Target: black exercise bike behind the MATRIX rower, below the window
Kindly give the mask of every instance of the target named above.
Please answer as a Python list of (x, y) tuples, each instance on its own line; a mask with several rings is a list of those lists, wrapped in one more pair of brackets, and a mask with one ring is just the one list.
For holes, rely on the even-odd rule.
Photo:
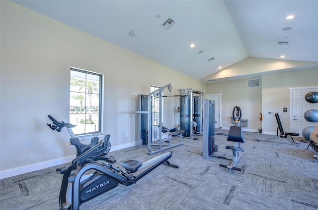
[[(76, 157), (79, 157), (81, 154), (83, 154), (84, 152), (88, 151), (90, 148), (94, 147), (95, 145), (97, 145), (97, 143), (99, 142), (99, 138), (97, 136), (94, 136), (91, 138), (90, 140), (90, 144), (85, 145), (79, 142), (79, 138), (75, 136), (72, 128), (74, 128), (76, 125), (73, 125), (71, 123), (68, 122), (59, 122), (56, 119), (54, 119), (54, 117), (52, 117), (51, 115), (48, 115), (48, 117), (52, 120), (52, 124), (48, 124), (47, 125), (52, 129), (52, 130), (56, 130), (58, 132), (60, 132), (62, 130), (62, 128), (66, 127), (66, 129), (68, 130), (71, 138), (70, 138), (70, 144), (74, 145), (76, 147)], [(105, 136), (106, 138), (106, 136)], [(95, 154), (92, 154), (91, 157), (89, 157), (89, 159), (92, 160), (105, 160), (108, 162), (116, 162), (116, 160), (114, 159), (114, 157), (110, 156), (110, 157), (105, 157), (107, 155), (107, 153), (110, 151), (110, 142), (108, 142), (107, 147), (102, 148), (100, 151), (97, 151)]]

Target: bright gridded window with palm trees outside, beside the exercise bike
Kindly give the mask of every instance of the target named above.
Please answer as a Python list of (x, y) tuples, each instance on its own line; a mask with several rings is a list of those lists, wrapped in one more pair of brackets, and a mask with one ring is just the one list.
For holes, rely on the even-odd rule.
[(101, 131), (102, 75), (71, 68), (70, 123), (74, 134)]

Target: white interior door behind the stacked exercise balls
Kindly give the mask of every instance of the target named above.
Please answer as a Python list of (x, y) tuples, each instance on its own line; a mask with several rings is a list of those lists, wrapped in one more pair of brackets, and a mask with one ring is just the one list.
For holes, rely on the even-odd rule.
[(309, 109), (318, 109), (318, 104), (311, 104), (305, 100), (305, 96), (309, 92), (318, 92), (318, 87), (291, 88), (291, 128), (292, 132), (300, 133), (307, 126), (314, 126), (314, 122), (309, 122), (304, 118), (305, 111)]

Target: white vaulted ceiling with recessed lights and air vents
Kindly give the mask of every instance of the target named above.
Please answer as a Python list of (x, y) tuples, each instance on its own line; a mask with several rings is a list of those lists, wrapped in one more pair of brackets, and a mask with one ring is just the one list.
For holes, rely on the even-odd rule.
[(318, 0), (13, 1), (196, 79), (246, 57), (318, 62)]

